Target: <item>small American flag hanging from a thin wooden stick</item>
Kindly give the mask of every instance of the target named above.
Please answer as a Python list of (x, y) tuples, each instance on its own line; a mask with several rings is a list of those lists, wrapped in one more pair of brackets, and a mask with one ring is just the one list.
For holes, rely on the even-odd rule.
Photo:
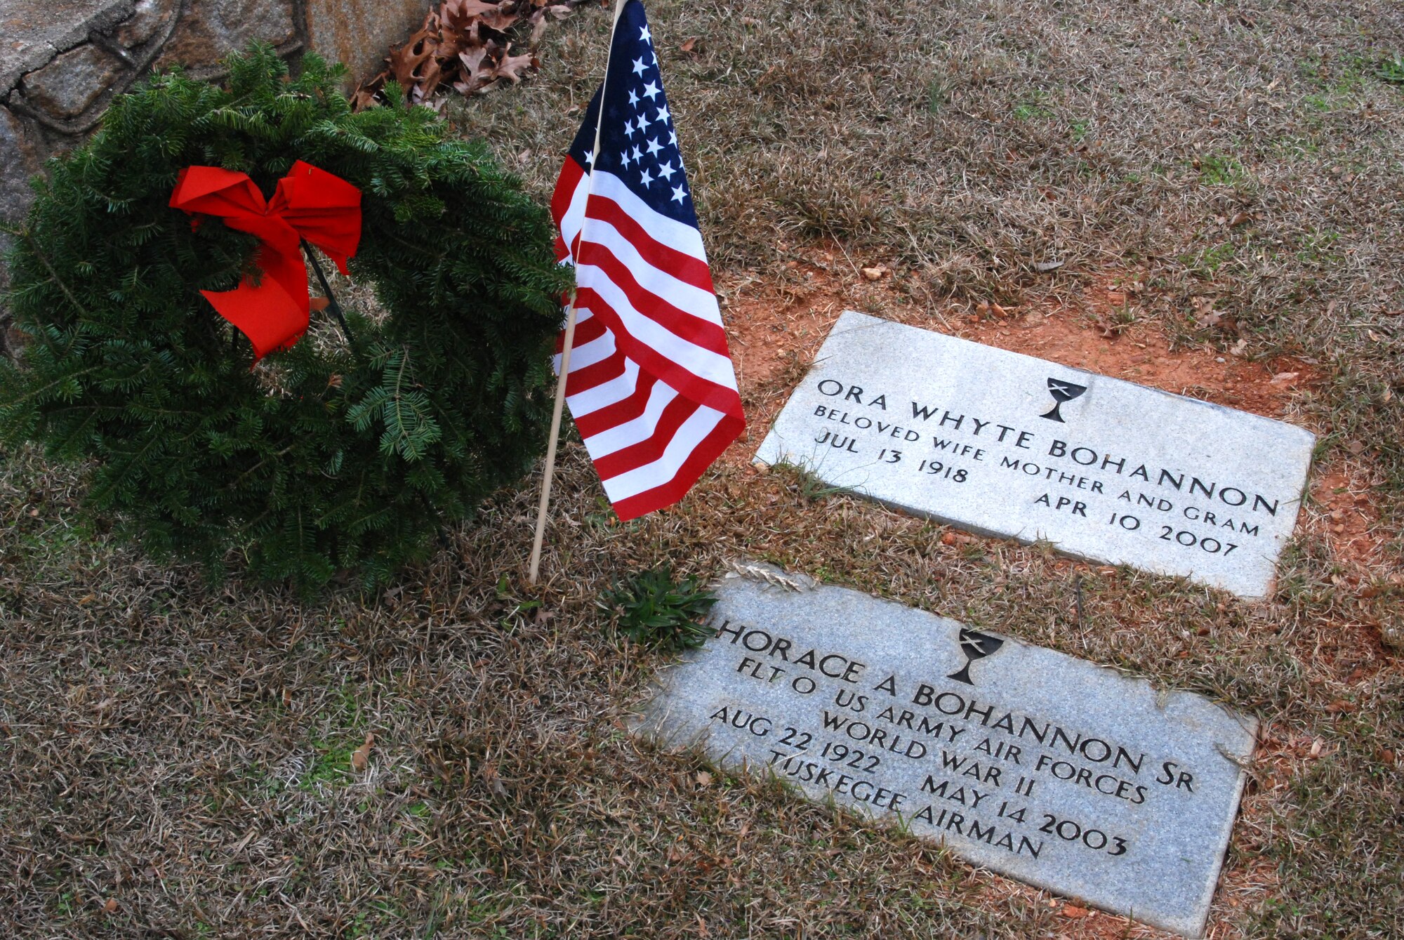
[(615, 20), (550, 208), (556, 254), (576, 268), (566, 403), (615, 512), (633, 519), (681, 499), (746, 427), (639, 0)]

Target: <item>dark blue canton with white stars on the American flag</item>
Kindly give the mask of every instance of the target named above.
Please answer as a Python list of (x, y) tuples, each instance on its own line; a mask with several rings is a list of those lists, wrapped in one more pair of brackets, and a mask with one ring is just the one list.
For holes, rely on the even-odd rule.
[[(600, 130), (600, 170), (623, 180), (656, 212), (696, 227), (692, 188), (682, 170), (678, 135), (668, 97), (663, 94), (658, 58), (653, 53), (653, 35), (639, 0), (629, 0), (619, 15), (604, 93), (608, 100)], [(600, 91), (595, 91), (570, 146), (570, 156), (585, 170), (590, 170), (598, 114)]]

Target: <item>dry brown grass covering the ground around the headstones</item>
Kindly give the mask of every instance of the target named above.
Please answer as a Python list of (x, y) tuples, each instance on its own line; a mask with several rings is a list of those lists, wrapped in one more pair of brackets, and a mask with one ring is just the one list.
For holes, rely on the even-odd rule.
[[(1212, 936), (1404, 936), (1404, 678), (1380, 643), (1404, 599), (1404, 88), (1376, 76), (1404, 51), (1404, 11), (658, 0), (650, 14), (731, 310), (837, 303), (951, 328), (980, 300), (1078, 310), (1126, 275), (1144, 283), (1137, 330), (1214, 355), (1244, 340), (1248, 359), (1320, 372), (1285, 407), (1321, 435), (1331, 485), (1276, 595), (943, 540), (861, 499), (812, 501), (748, 450), (678, 509), (616, 525), (573, 443), (542, 589), (521, 578), (528, 483), (397, 588), (299, 605), (112, 544), (76, 511), (79, 474), (8, 453), (0, 933), (1155, 936), (1066, 916), (764, 783), (703, 786), (695, 756), (626, 737), (660, 659), (605, 633), (598, 592), (664, 560), (710, 574), (757, 557), (1254, 711), (1264, 745)], [(541, 79), (453, 119), (549, 189), (604, 28), (567, 21)], [(817, 290), (789, 262), (821, 251), (835, 274)], [(1033, 271), (1050, 257), (1066, 267)], [(844, 274), (878, 261), (894, 269), (880, 290)], [(1195, 297), (1228, 316), (1198, 325)], [(785, 349), (819, 338), (776, 323)], [(755, 372), (748, 407), (772, 411), (802, 368), (796, 352)], [(1328, 502), (1366, 484), (1379, 529), (1365, 537), (1386, 543), (1369, 563), (1346, 557)]]

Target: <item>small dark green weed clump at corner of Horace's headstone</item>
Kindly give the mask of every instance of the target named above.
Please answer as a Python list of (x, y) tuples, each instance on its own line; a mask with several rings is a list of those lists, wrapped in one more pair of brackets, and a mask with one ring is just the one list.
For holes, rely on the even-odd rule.
[(600, 595), (601, 609), (616, 617), (619, 631), (665, 652), (694, 650), (706, 640), (702, 626), (716, 595), (696, 575), (673, 579), (673, 567), (660, 565), (637, 572)]

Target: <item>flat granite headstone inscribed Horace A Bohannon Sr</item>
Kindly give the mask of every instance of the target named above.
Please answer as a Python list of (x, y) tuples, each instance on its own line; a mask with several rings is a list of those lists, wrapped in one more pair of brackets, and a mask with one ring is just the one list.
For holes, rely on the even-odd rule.
[[(774, 575), (771, 575), (774, 577)], [(858, 591), (722, 582), (636, 732), (702, 746), (970, 861), (1205, 929), (1257, 723)], [(776, 578), (778, 581), (778, 578)]]

